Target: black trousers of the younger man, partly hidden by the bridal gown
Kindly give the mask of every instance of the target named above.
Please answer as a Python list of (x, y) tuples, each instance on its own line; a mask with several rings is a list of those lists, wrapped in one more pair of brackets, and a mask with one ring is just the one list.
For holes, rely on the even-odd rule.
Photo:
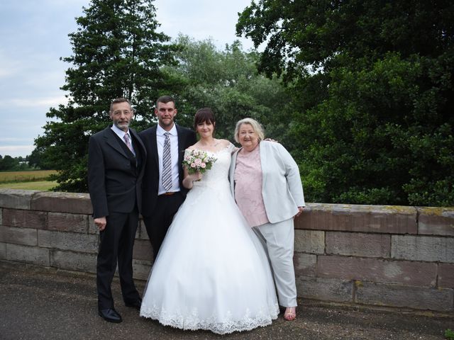
[(153, 256), (155, 259), (162, 241), (164, 241), (165, 234), (167, 234), (167, 229), (172, 224), (173, 217), (183, 202), (184, 196), (180, 192), (169, 196), (157, 196), (155, 210), (153, 210), (150, 216), (143, 217), (148, 237), (150, 237), (150, 242), (153, 246)]

